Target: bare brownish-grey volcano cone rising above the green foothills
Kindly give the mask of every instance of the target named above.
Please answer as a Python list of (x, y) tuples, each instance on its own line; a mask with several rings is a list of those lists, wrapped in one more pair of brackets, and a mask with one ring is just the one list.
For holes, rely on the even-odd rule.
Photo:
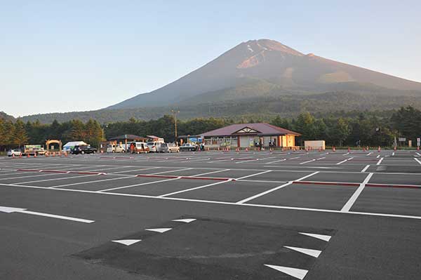
[[(271, 84), (272, 90), (270, 93), (256, 91), (256, 86), (250, 86), (253, 83)], [(240, 89), (241, 95), (233, 94), (236, 88), (245, 87), (249, 90)], [(277, 41), (262, 39), (241, 43), (171, 84), (151, 93), (136, 95), (107, 109), (173, 105), (192, 97), (209, 99), (215, 92), (219, 96), (227, 94), (230, 96), (228, 99), (233, 100), (244, 95), (279, 96), (344, 90), (383, 95), (421, 95), (421, 83), (313, 54), (305, 55)]]

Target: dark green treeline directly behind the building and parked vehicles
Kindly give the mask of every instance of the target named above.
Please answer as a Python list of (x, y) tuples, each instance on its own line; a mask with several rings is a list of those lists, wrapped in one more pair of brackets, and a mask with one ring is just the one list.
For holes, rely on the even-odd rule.
[[(260, 119), (241, 119), (242, 123), (260, 122)], [(369, 114), (361, 112), (354, 116), (316, 117), (309, 112), (300, 114), (297, 118), (288, 119), (276, 116), (271, 124), (301, 133), (296, 145), (303, 140), (326, 140), (326, 145), (350, 146), (381, 145), (391, 147), (394, 138), (404, 137), (416, 145), (416, 138), (421, 136), (421, 111), (413, 107), (388, 112), (388, 114)], [(178, 135), (199, 135), (203, 132), (234, 124), (232, 119), (208, 118), (178, 121)], [(104, 133), (104, 135), (102, 134)], [(25, 144), (44, 144), (48, 139), (60, 139), (62, 142), (83, 140), (93, 146), (98, 146), (102, 137), (111, 138), (121, 134), (158, 135), (166, 141), (174, 140), (173, 116), (162, 116), (150, 121), (118, 121), (100, 125), (98, 121), (80, 120), (65, 121), (61, 124), (41, 124), (39, 121), (27, 123), (20, 119), (13, 121), (0, 118), (0, 147), (5, 150), (22, 147)]]

